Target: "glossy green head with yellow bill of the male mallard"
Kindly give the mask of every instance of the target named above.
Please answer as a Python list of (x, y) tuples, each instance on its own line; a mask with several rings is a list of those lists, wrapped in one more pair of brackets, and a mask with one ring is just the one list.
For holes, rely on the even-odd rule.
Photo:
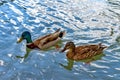
[(26, 40), (27, 43), (32, 43), (32, 39), (31, 39), (31, 34), (28, 31), (24, 31), (20, 37), (20, 39), (17, 41), (17, 43), (20, 43), (22, 40)]

